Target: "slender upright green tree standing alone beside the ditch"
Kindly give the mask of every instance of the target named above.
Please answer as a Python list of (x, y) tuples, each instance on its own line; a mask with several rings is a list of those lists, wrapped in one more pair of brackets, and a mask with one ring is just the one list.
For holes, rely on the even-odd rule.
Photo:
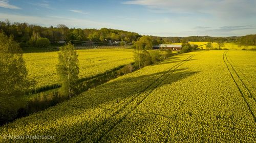
[(56, 69), (59, 77), (58, 82), (61, 85), (59, 93), (62, 96), (71, 97), (76, 93), (76, 82), (79, 74), (78, 55), (71, 43), (60, 48), (58, 60)]

